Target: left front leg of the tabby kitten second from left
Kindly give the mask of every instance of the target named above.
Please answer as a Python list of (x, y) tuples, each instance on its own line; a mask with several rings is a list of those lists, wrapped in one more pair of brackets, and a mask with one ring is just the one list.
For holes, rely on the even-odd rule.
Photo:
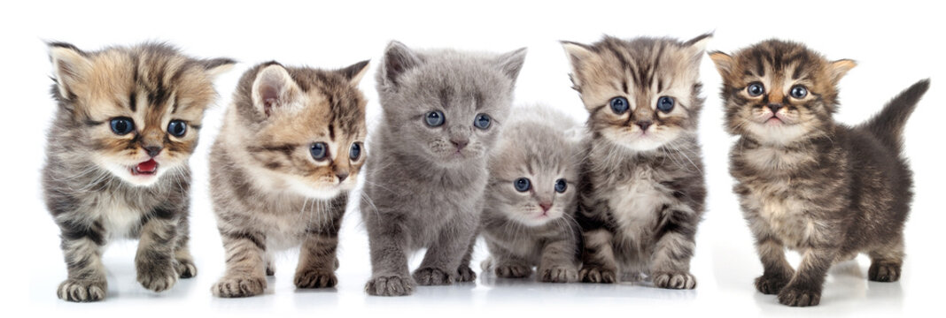
[(220, 229), (227, 270), (210, 289), (218, 297), (248, 297), (266, 291), (266, 236)]

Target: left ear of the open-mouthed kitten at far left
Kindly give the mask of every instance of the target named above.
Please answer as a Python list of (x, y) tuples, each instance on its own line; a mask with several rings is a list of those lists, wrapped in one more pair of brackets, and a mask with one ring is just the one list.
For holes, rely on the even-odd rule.
[(92, 60), (69, 43), (49, 43), (49, 59), (53, 64), (56, 86), (65, 99), (70, 99), (81, 88), (85, 77), (92, 73)]

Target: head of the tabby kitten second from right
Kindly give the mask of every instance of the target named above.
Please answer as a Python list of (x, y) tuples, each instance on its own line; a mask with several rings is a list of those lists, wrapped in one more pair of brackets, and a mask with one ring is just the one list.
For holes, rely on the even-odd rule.
[(699, 62), (709, 39), (563, 42), (591, 130), (634, 151), (692, 134), (701, 107)]

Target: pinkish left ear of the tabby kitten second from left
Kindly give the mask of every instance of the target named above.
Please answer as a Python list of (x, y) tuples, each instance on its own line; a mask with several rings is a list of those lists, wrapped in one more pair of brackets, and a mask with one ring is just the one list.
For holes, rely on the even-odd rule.
[(272, 63), (256, 73), (253, 82), (253, 104), (269, 118), (274, 111), (286, 109), (299, 98), (301, 90), (289, 72)]

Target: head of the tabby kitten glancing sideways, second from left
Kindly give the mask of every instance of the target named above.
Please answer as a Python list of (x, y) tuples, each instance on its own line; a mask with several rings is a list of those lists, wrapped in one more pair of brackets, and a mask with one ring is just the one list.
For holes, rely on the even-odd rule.
[(240, 142), (252, 164), (292, 192), (329, 199), (352, 190), (366, 151), (361, 61), (337, 71), (256, 66), (236, 92)]

